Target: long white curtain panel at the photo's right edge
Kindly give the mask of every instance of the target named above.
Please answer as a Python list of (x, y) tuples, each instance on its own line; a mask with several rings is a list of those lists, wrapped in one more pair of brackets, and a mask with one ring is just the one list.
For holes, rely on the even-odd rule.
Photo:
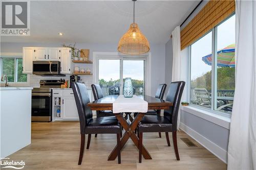
[(228, 169), (256, 169), (256, 1), (236, 1), (236, 89)]

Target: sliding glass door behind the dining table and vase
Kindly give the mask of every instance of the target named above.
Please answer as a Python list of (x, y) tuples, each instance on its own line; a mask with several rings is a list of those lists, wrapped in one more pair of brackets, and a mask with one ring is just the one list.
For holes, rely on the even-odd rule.
[(123, 94), (125, 78), (131, 78), (134, 94), (145, 94), (145, 59), (110, 58), (98, 60), (96, 82), (101, 86), (103, 96)]

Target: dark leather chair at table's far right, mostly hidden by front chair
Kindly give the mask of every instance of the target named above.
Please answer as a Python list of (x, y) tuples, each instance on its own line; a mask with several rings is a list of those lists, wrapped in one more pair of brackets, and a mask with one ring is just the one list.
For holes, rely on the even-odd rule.
[[(156, 92), (156, 95), (155, 95), (155, 98), (158, 98), (158, 99), (163, 99), (163, 95), (164, 95), (164, 92), (165, 92), (165, 89), (166, 89), (166, 84), (159, 84), (158, 85), (158, 88), (157, 88), (157, 92)], [(158, 115), (160, 116), (161, 114), (161, 110), (148, 110), (147, 113), (145, 113), (145, 115)], [(134, 113), (134, 117), (137, 115), (137, 113)], [(135, 130), (135, 133), (137, 130)], [(161, 132), (158, 133), (159, 134), (159, 137), (161, 138)]]

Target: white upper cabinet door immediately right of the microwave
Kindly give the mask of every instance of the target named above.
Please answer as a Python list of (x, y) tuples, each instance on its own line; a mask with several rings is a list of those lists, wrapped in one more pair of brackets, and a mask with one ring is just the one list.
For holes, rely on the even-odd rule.
[(61, 74), (72, 74), (71, 71), (71, 53), (70, 48), (61, 48), (60, 57), (60, 73)]

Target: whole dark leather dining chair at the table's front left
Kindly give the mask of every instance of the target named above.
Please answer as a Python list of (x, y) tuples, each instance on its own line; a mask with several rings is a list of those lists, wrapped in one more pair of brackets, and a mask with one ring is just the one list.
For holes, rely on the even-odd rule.
[(93, 118), (92, 111), (87, 104), (90, 102), (86, 85), (83, 83), (73, 83), (72, 89), (75, 96), (76, 107), (80, 121), (81, 145), (78, 165), (82, 162), (84, 142), (88, 134), (87, 149), (90, 147), (91, 134), (116, 134), (118, 145), (118, 163), (121, 163), (120, 134), (121, 126), (115, 116)]

